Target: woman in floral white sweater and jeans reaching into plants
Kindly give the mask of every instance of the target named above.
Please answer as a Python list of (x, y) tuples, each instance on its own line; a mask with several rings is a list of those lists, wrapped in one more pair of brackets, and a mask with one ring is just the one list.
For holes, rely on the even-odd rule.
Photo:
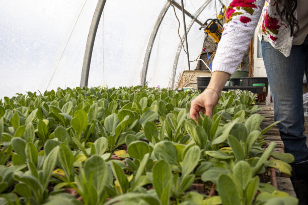
[(308, 148), (302, 134), (302, 78), (304, 72), (308, 74), (307, 0), (234, 0), (226, 10), (211, 81), (191, 102), (190, 117), (197, 120), (199, 112), (212, 117), (221, 90), (239, 66), (257, 25), (275, 121), (281, 121), (277, 127), (285, 152), (295, 158), (292, 167), (297, 180), (308, 186)]

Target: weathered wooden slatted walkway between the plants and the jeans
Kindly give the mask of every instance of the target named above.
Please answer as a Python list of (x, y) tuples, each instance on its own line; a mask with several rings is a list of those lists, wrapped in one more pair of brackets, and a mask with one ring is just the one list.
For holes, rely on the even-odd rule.
[[(260, 126), (261, 129), (264, 129), (267, 126), (275, 122), (273, 106), (266, 106), (262, 104), (259, 106), (263, 108), (263, 111), (259, 112), (259, 114), (265, 117), (265, 119), (263, 120)], [(304, 133), (308, 133), (307, 124), (305, 124), (305, 128), (306, 130)], [(267, 133), (265, 133), (264, 136), (266, 140), (270, 142), (275, 142), (277, 144), (274, 150), (275, 152), (284, 153), (284, 145), (283, 145), (283, 142), (281, 141), (279, 130), (276, 126), (272, 127)], [(292, 182), (288, 174), (284, 174), (276, 170), (276, 178), (277, 178), (277, 185), (278, 185), (279, 190), (285, 191), (290, 196), (296, 197)]]

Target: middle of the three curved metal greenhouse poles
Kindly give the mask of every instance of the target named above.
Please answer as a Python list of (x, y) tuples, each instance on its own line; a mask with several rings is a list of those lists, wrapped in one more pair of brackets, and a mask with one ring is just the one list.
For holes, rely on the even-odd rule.
[(151, 33), (150, 39), (148, 40), (148, 44), (147, 44), (147, 48), (146, 48), (146, 53), (144, 56), (144, 61), (143, 61), (143, 67), (142, 67), (142, 72), (141, 72), (141, 77), (140, 77), (140, 85), (144, 85), (145, 84), (145, 80), (146, 80), (146, 73), (147, 73), (147, 67), (148, 67), (148, 62), (149, 62), (149, 58), (152, 52), (152, 48), (153, 48), (153, 44), (157, 35), (157, 32), (161, 26), (161, 23), (168, 11), (170, 7), (170, 3), (167, 1), (166, 4), (164, 5), (155, 25), (153, 28), (153, 31)]

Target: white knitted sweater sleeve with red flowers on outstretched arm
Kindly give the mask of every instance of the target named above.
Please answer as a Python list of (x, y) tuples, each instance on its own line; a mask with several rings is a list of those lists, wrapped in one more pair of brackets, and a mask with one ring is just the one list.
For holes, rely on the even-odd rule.
[(212, 72), (233, 74), (238, 68), (257, 27), (264, 2), (265, 0), (234, 0), (230, 3)]

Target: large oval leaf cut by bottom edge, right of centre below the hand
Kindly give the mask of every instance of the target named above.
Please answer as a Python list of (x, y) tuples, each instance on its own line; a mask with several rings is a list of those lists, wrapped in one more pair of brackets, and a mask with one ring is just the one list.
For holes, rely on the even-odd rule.
[(241, 204), (235, 182), (226, 174), (218, 177), (218, 193), (223, 205)]

